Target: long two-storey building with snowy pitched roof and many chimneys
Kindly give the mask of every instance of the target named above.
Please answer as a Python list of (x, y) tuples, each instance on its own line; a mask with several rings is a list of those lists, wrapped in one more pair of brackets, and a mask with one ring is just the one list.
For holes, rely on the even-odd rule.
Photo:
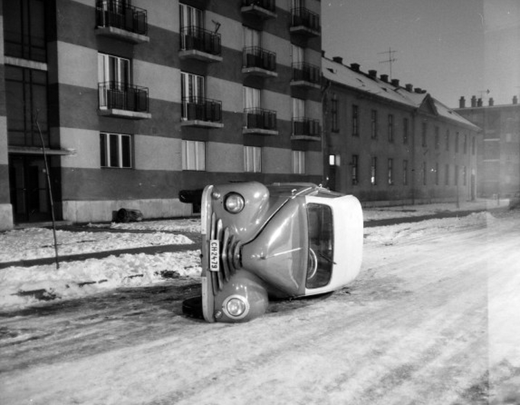
[(322, 59), (327, 185), (364, 205), (471, 200), (479, 127), (412, 84)]

